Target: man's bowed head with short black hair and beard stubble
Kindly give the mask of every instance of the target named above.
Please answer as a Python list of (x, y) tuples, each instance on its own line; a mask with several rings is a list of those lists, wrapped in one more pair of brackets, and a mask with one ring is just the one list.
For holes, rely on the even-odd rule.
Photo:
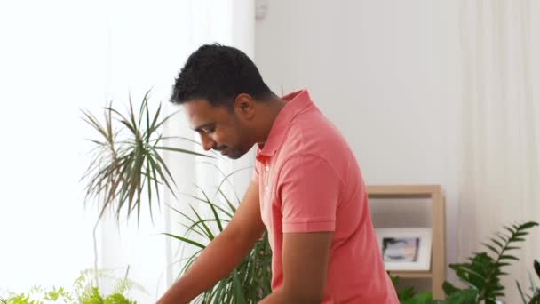
[(184, 105), (204, 149), (213, 148), (235, 159), (256, 142), (256, 103), (274, 97), (246, 54), (233, 47), (206, 44), (187, 59), (171, 102)]

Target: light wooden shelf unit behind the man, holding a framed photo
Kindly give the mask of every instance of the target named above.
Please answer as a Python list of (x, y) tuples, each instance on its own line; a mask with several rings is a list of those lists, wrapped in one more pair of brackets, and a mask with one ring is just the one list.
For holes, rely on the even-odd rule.
[(391, 271), (401, 278), (428, 278), (434, 299), (442, 299), (445, 279), (444, 200), (439, 185), (368, 185), (369, 198), (428, 198), (431, 201), (432, 263), (429, 271)]

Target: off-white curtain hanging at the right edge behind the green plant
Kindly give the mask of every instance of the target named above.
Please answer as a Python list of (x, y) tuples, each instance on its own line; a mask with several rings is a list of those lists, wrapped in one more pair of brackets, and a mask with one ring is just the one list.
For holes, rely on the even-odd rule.
[[(503, 225), (540, 221), (540, 4), (462, 1), (463, 130), (458, 257)], [(540, 259), (538, 228), (504, 278), (506, 302), (518, 303), (515, 281)]]

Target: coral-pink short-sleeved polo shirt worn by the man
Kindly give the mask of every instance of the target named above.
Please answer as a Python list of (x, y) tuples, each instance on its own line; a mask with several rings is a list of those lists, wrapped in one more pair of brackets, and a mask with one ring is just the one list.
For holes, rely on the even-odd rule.
[(272, 289), (283, 283), (284, 233), (333, 231), (322, 303), (398, 303), (385, 273), (353, 152), (306, 90), (289, 101), (258, 148), (253, 180), (272, 247)]

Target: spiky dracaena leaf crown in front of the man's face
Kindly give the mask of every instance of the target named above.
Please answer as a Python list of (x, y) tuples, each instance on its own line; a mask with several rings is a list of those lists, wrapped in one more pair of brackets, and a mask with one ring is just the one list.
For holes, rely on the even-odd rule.
[(150, 91), (144, 95), (139, 111), (134, 110), (131, 96), (125, 113), (113, 108), (111, 101), (103, 108), (103, 119), (83, 110), (83, 120), (96, 131), (98, 138), (89, 139), (91, 164), (84, 172), (86, 201), (97, 200), (101, 205), (99, 218), (107, 208), (115, 212), (116, 220), (125, 209), (129, 218), (137, 212), (140, 218), (141, 202), (147, 198), (152, 218), (153, 193), (159, 205), (159, 186), (164, 185), (174, 195), (171, 172), (160, 151), (168, 150), (196, 156), (206, 156), (183, 148), (163, 146), (160, 127), (175, 113), (161, 118), (161, 104), (150, 111)]

